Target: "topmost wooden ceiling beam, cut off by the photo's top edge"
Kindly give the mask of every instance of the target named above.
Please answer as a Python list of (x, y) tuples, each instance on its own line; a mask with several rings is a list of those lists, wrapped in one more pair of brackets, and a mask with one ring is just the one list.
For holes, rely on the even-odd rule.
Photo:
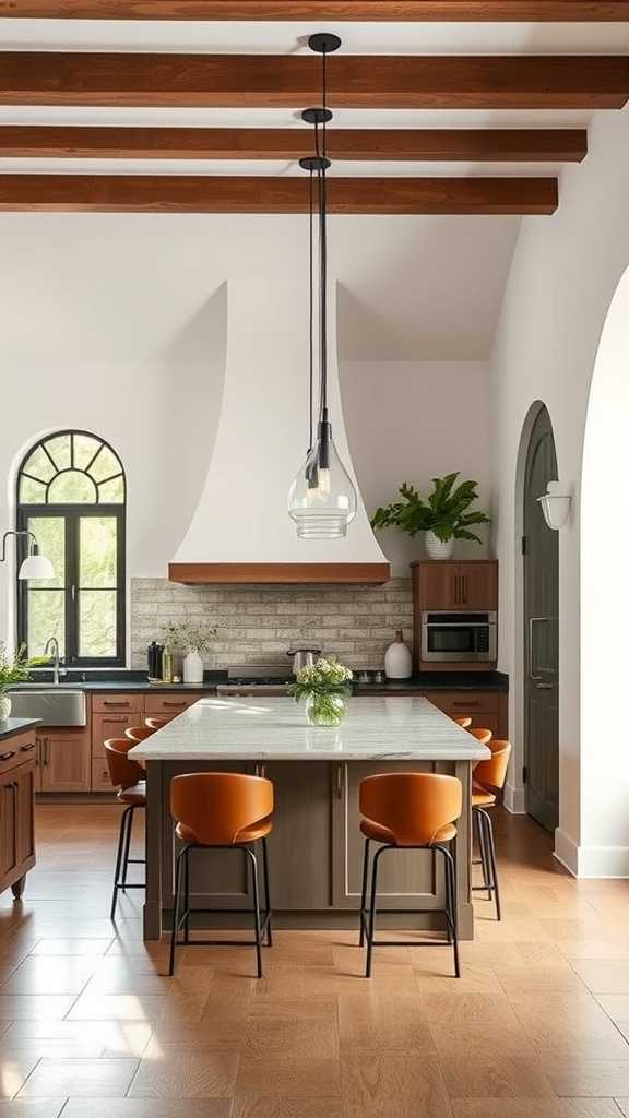
[(135, 20), (625, 22), (629, 0), (0, 0), (0, 17)]

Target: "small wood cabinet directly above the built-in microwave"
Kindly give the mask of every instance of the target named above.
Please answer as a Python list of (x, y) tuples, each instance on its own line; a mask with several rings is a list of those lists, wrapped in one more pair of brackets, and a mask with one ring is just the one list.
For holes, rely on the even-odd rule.
[(411, 567), (413, 597), (420, 610), (498, 608), (498, 563), (495, 559), (419, 560)]

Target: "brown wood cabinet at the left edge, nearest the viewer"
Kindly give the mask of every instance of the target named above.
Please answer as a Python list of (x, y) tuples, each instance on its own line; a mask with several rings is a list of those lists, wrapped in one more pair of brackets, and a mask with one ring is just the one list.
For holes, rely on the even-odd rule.
[(35, 865), (35, 735), (18, 733), (0, 748), (0, 891), (21, 897)]

